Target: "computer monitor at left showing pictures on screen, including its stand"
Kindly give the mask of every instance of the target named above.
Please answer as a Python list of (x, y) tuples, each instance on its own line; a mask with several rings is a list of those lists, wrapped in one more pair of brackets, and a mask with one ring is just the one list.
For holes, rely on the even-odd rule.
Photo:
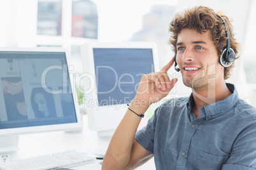
[(63, 48), (0, 48), (0, 152), (18, 135), (82, 128), (69, 53)]

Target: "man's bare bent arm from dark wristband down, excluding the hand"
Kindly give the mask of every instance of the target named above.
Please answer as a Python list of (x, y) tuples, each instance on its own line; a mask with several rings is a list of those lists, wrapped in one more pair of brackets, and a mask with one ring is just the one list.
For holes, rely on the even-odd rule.
[(140, 120), (138, 115), (127, 110), (110, 141), (102, 169), (134, 169), (152, 157), (148, 150), (134, 140)]

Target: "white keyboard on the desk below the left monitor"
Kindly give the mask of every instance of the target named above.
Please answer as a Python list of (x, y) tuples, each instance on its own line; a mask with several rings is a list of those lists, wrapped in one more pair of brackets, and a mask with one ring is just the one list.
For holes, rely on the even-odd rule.
[(75, 150), (58, 152), (55, 154), (41, 155), (20, 160), (10, 160), (0, 164), (1, 170), (45, 170), (75, 167), (96, 160)]

